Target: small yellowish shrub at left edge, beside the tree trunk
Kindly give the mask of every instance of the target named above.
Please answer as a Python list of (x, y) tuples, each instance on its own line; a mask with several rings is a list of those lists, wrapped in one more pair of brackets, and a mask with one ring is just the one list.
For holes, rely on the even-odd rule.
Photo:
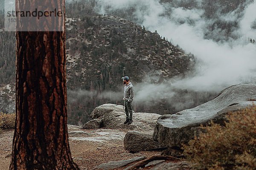
[(15, 113), (0, 113), (0, 128), (12, 129), (15, 127)]

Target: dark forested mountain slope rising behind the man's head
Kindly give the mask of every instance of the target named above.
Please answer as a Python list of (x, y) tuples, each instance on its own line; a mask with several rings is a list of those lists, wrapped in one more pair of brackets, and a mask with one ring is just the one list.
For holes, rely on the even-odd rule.
[[(116, 16), (67, 18), (67, 85), (69, 89), (115, 90), (129, 75), (160, 83), (189, 70), (193, 56), (157, 32)], [(157, 78), (156, 78), (157, 77)]]

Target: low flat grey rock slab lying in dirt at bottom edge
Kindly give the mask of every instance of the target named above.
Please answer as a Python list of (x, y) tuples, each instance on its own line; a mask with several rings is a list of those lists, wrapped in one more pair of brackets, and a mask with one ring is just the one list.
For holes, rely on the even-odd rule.
[(140, 161), (145, 159), (144, 156), (140, 156), (140, 157), (135, 157), (132, 159), (126, 159), (126, 160), (122, 160), (122, 161), (110, 161), (108, 163), (104, 163), (104, 164), (100, 164), (97, 167), (95, 167), (94, 169), (98, 170), (112, 170), (118, 167), (123, 167), (125, 165), (131, 164), (134, 161)]

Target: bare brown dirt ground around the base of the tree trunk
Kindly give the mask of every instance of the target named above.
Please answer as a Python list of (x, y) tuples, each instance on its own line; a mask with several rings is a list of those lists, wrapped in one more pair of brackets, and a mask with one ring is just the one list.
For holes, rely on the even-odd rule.
[[(90, 132), (90, 130), (83, 130)], [(11, 161), (14, 130), (4, 130), (0, 134), (0, 170), (8, 170)], [(157, 156), (161, 151), (140, 151), (129, 153), (122, 141), (102, 143), (88, 140), (69, 140), (72, 158), (81, 170), (92, 170), (99, 164), (109, 161), (131, 159), (136, 156)], [(122, 169), (122, 168), (118, 168)]]

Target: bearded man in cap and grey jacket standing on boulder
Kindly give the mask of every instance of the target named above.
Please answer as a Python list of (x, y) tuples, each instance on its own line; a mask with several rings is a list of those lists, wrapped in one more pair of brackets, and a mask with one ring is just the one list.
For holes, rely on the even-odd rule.
[[(129, 81), (129, 77), (125, 76), (122, 77), (123, 80), (123, 84), (125, 86), (124, 88), (124, 105), (125, 105), (125, 114), (126, 114), (126, 120), (124, 122), (124, 124), (128, 124), (130, 125), (132, 122), (132, 105), (131, 102), (133, 101), (133, 97), (134, 97), (134, 88), (133, 85), (131, 84), (131, 82)], [(130, 113), (130, 114), (129, 114)]]

